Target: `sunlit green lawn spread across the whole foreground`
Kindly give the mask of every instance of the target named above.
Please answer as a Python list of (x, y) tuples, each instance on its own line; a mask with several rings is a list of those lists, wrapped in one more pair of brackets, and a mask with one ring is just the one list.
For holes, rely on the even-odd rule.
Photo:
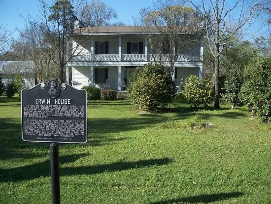
[[(271, 125), (251, 119), (230, 106), (139, 114), (89, 101), (88, 142), (59, 147), (61, 203), (269, 204)], [(19, 98), (0, 97), (0, 204), (51, 203), (49, 145), (23, 142), (20, 120)]]

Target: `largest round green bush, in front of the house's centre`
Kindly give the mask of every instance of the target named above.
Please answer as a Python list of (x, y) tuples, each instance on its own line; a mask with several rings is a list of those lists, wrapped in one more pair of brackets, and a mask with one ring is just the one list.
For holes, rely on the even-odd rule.
[(153, 63), (135, 68), (127, 91), (132, 103), (146, 112), (166, 108), (176, 93), (175, 82), (165, 68)]

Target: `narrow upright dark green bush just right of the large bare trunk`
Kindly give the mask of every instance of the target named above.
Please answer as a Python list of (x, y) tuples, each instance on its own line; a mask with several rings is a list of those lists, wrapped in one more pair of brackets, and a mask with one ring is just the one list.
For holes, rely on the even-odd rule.
[(224, 86), (222, 87), (225, 93), (221, 95), (227, 102), (232, 103), (232, 109), (235, 109), (236, 106), (243, 106), (239, 95), (242, 83), (243, 76), (239, 68), (233, 67), (231, 70), (228, 70)]

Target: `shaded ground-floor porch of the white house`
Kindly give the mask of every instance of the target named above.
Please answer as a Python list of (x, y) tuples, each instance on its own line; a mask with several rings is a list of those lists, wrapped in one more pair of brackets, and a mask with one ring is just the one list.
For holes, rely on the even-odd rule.
[[(172, 79), (175, 80), (177, 89), (180, 89), (181, 79), (185, 79), (191, 74), (202, 78), (203, 67), (200, 64), (199, 66), (192, 63), (188, 65), (190, 66), (174, 67)], [(77, 84), (72, 83), (72, 86), (81, 89), (83, 86), (91, 85), (101, 89), (110, 88), (125, 91), (129, 86), (130, 77), (134, 70), (134, 66), (75, 66), (72, 67), (72, 82), (77, 82)]]

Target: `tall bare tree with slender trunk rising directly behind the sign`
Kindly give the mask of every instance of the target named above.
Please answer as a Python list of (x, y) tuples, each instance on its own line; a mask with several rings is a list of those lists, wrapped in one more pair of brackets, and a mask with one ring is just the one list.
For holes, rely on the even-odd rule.
[[(53, 52), (47, 49), (43, 51), (59, 67), (61, 83), (65, 82), (64, 70), (67, 62), (80, 54), (84, 43), (97, 31), (97, 28), (80, 28), (77, 16), (84, 6), (85, 0), (39, 0), (37, 19), (31, 14), (27, 19), (22, 16), (32, 27), (38, 28), (50, 42)], [(76, 32), (76, 39), (71, 37), (73, 32)], [(86, 37), (82, 37), (83, 33)], [(76, 43), (71, 43), (72, 41)]]

